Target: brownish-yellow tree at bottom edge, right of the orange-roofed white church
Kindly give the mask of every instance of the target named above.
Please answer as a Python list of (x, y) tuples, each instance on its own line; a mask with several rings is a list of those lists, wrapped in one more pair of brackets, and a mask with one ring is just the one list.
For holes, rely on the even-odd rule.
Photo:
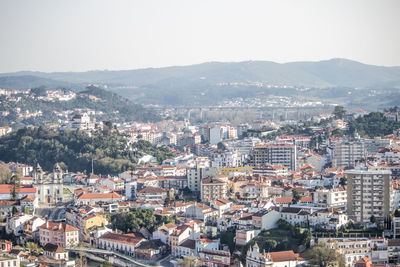
[(323, 243), (308, 249), (305, 253), (305, 258), (311, 266), (345, 266), (344, 258), (339, 254), (339, 252), (327, 247)]

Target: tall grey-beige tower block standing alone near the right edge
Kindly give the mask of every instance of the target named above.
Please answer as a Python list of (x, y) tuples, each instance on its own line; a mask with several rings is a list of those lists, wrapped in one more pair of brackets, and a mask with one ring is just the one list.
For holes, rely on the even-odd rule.
[(391, 171), (357, 167), (345, 171), (345, 175), (349, 219), (368, 222), (374, 215), (378, 222), (383, 222), (393, 206)]

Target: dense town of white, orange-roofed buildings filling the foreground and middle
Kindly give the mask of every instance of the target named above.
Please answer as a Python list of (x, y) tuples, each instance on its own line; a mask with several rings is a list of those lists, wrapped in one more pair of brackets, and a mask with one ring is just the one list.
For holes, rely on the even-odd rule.
[[(302, 266), (322, 249), (329, 264), (399, 265), (399, 130), (351, 133), (363, 116), (335, 108), (297, 122), (307, 134), (282, 134), (278, 120), (115, 124), (135, 149), (148, 142), (174, 155), (142, 155), (117, 175), (93, 162), (84, 172), (4, 162), (0, 262)], [(396, 110), (382, 116), (399, 120)], [(104, 125), (81, 113), (53, 127), (93, 136)]]

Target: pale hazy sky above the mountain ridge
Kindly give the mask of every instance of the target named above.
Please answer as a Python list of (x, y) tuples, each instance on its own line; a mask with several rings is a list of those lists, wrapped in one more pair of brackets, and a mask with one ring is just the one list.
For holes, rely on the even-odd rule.
[(0, 72), (347, 58), (400, 66), (398, 0), (0, 0)]

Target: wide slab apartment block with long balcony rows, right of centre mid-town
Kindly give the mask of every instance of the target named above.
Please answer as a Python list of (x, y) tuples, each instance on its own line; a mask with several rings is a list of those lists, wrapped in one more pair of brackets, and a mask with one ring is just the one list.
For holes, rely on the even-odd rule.
[(269, 144), (253, 148), (253, 165), (283, 165), (289, 170), (297, 169), (296, 145)]

